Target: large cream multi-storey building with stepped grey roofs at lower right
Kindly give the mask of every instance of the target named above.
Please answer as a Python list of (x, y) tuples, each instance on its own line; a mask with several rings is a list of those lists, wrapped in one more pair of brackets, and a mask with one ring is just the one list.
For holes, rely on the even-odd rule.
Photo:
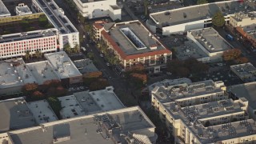
[(243, 143), (256, 138), (248, 101), (228, 99), (221, 81), (156, 86), (151, 93), (152, 106), (177, 143)]

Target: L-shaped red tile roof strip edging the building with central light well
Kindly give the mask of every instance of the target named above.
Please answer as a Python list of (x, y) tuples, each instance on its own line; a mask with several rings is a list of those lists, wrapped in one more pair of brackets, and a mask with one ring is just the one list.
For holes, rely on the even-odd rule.
[(102, 30), (101, 33), (102, 33), (102, 37), (106, 38), (106, 40), (108, 42), (110, 42), (110, 45), (113, 46), (114, 50), (116, 50), (118, 52), (120, 57), (125, 60), (154, 56), (155, 54), (171, 54), (170, 50), (164, 49), (164, 50), (156, 50), (156, 51), (152, 51), (152, 52), (147, 52), (147, 53), (143, 53), (143, 54), (127, 55), (122, 51), (122, 49), (118, 46), (118, 44), (116, 42), (114, 42), (114, 40), (110, 37), (110, 34), (108, 34), (105, 30)]

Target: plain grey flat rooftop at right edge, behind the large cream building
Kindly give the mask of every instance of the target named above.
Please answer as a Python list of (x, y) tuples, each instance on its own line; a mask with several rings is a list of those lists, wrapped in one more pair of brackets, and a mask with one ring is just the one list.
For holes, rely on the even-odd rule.
[(246, 98), (249, 106), (256, 110), (256, 82), (248, 82), (240, 85), (230, 86), (230, 92), (238, 98)]

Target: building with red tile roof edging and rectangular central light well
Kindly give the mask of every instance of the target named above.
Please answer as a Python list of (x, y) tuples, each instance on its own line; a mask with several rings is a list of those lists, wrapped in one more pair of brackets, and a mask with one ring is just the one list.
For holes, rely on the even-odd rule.
[(109, 28), (101, 31), (101, 40), (124, 70), (142, 63), (151, 73), (156, 73), (172, 58), (171, 51), (138, 20), (116, 23)]

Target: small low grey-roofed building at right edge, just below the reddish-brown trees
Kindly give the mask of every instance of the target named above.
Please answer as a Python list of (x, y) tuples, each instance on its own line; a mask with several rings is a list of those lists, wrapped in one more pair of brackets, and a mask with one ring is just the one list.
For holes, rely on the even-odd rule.
[(230, 66), (230, 70), (243, 82), (254, 82), (256, 80), (256, 68), (250, 62)]

